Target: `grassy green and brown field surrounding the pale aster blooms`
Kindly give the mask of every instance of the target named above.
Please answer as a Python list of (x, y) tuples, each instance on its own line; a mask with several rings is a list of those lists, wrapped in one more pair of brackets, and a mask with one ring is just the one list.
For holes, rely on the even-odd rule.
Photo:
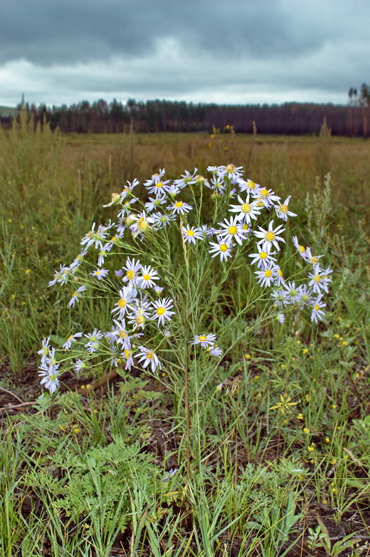
[[(282, 202), (292, 196), (297, 217), (275, 219), (287, 234), (282, 269), (291, 291), (310, 271), (292, 236), (322, 255), (333, 271), (322, 321), (299, 303), (277, 320), (250, 263), (255, 244), (220, 261), (174, 227), (117, 241), (107, 282), (88, 259), (87, 290), (70, 306), (73, 284), (48, 287), (93, 223), (116, 219), (103, 205), (127, 180), (147, 201), (142, 184), (160, 169), (209, 178), (209, 165), (229, 164)], [(223, 198), (199, 184), (184, 201), (197, 227), (217, 224)], [(325, 127), (317, 137), (60, 135), (21, 114), (0, 130), (1, 556), (370, 555), (369, 206), (369, 140)], [(147, 358), (125, 370), (122, 356), (76, 370), (67, 355), (49, 393), (43, 338), (58, 354), (73, 333), (112, 330), (125, 296), (113, 271), (127, 256), (156, 269), (174, 304), (170, 330), (159, 318), (151, 333), (162, 368)], [(194, 335), (216, 335), (223, 352), (211, 358)]]

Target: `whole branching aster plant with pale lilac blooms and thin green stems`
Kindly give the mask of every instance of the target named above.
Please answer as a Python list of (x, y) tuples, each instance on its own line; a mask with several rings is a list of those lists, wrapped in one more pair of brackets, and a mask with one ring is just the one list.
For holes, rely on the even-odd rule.
[[(287, 311), (322, 320), (332, 270), (296, 236), (285, 238), (287, 219), (296, 216), (288, 207), (290, 196), (282, 202), (273, 189), (246, 178), (242, 167), (228, 164), (208, 172), (203, 177), (195, 169), (171, 180), (160, 170), (143, 184), (146, 199), (139, 199), (142, 186), (136, 179), (127, 182), (105, 205), (117, 208), (115, 220), (93, 224), (80, 242), (80, 254), (56, 271), (49, 286), (72, 286), (71, 311), (84, 298), (104, 298), (112, 322), (110, 330), (97, 324), (92, 332), (71, 333), (60, 349), (50, 338), (43, 340), (39, 374), (51, 392), (71, 368), (78, 373), (102, 364), (137, 366), (159, 379), (159, 371), (165, 372), (166, 385), (184, 397), (189, 439), (190, 370), (199, 394), (219, 360), (242, 338), (223, 346), (214, 317), (220, 307), (233, 313), (222, 291), (235, 271), (251, 269), (255, 277), (233, 316), (245, 320), (243, 335), (274, 319), (283, 323)], [(300, 261), (290, 279), (283, 273), (289, 241)], [(257, 303), (263, 303), (263, 311), (247, 325)], [(206, 380), (199, 361), (208, 369)]]

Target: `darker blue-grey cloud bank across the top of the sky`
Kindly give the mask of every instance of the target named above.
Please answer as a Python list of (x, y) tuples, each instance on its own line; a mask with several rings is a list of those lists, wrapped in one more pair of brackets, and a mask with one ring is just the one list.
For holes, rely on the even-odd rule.
[(1, 6), (0, 63), (139, 57), (166, 38), (224, 57), (298, 56), (332, 34), (323, 36), (324, 11), (305, 6), (302, 14), (299, 2), (282, 0), (8, 0)]

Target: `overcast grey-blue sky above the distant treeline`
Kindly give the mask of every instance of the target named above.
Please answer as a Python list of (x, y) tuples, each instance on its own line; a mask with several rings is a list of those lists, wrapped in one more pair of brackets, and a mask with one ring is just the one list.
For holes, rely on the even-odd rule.
[(370, 0), (0, 0), (0, 105), (347, 103)]

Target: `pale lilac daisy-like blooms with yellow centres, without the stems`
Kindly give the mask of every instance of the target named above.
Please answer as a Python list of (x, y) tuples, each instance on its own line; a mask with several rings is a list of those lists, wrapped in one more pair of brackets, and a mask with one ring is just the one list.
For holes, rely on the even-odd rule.
[[(127, 182), (120, 193), (113, 193), (112, 200), (105, 207), (117, 206), (116, 222), (95, 223), (80, 244), (80, 254), (70, 266), (60, 265), (55, 271), (49, 286), (73, 284), (73, 293), (68, 305), (74, 307), (81, 299), (89, 295), (90, 288), (101, 287), (115, 297), (111, 309), (112, 327), (110, 331), (93, 330), (93, 333), (75, 333), (70, 335), (63, 345), (64, 350), (73, 353), (82, 352), (74, 360), (73, 367), (78, 372), (88, 367), (88, 361), (95, 355), (104, 355), (110, 365), (122, 364), (129, 370), (138, 363), (152, 372), (162, 368), (156, 351), (145, 346), (141, 339), (147, 333), (164, 339), (170, 335), (167, 326), (175, 315), (174, 299), (162, 297), (163, 288), (159, 286), (159, 267), (143, 264), (137, 256), (125, 256), (125, 263), (120, 269), (112, 271), (106, 265), (111, 254), (117, 250), (125, 251), (131, 246), (131, 252), (142, 258), (145, 254), (147, 237), (158, 236), (167, 227), (176, 227), (182, 240), (184, 253), (196, 250), (201, 244), (203, 253), (212, 259), (218, 259), (223, 270), (228, 269), (233, 256), (247, 251), (250, 264), (255, 266), (255, 281), (263, 288), (271, 288), (273, 304), (280, 323), (288, 306), (308, 309), (311, 321), (317, 323), (324, 316), (322, 301), (328, 292), (331, 269), (320, 266), (322, 256), (312, 256), (310, 247), (300, 246), (297, 237), (293, 238), (298, 254), (305, 266), (312, 269), (306, 282), (285, 281), (278, 264), (280, 250), (285, 244), (282, 234), (288, 217), (296, 214), (290, 210), (290, 196), (284, 202), (273, 189), (267, 189), (246, 178), (242, 167), (226, 165), (208, 167), (210, 177), (206, 178), (194, 172), (186, 171), (179, 179), (166, 179), (165, 171), (159, 170), (144, 182), (147, 201), (142, 202), (135, 192), (140, 185), (137, 179)], [(191, 196), (184, 195), (184, 189), (191, 189)], [(196, 201), (194, 192), (203, 199), (203, 193), (210, 190), (214, 204), (213, 222), (200, 223), (201, 204)], [(194, 201), (191, 201), (194, 199)], [(192, 203), (190, 204), (189, 201)], [(193, 216), (195, 214), (195, 216)], [(275, 220), (277, 219), (277, 221)], [(280, 220), (280, 223), (278, 222)], [(282, 222), (281, 222), (282, 221)], [(139, 246), (137, 252), (132, 245)], [(251, 249), (251, 245), (253, 245)], [(253, 253), (248, 253), (252, 251)], [(91, 272), (83, 275), (83, 266), (90, 265), (88, 252), (94, 256), (96, 264)], [(153, 262), (148, 256), (149, 261)], [(83, 280), (85, 276), (85, 280)], [(88, 280), (86, 280), (86, 278)], [(120, 280), (120, 287), (115, 289), (114, 281)], [(80, 285), (76, 287), (77, 285)], [(175, 296), (175, 293), (172, 293)], [(191, 332), (191, 345), (201, 345), (211, 356), (221, 357), (221, 349), (216, 345), (213, 333), (194, 335)], [(49, 340), (43, 341), (39, 373), (41, 382), (53, 392), (58, 386), (60, 364), (56, 361), (56, 349), (49, 346)], [(161, 341), (162, 342), (162, 341)], [(73, 356), (76, 358), (76, 356)], [(65, 361), (65, 360), (63, 360)]]

